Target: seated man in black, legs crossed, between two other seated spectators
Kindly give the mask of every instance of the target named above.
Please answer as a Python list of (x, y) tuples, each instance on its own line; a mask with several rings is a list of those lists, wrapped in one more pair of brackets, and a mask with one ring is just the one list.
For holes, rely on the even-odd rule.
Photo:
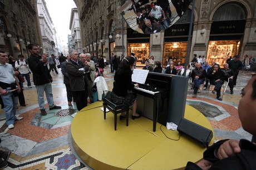
[(215, 85), (213, 91), (211, 91), (213, 94), (217, 92), (217, 98), (218, 100), (222, 100), (220, 98), (220, 90), (221, 90), (221, 85), (223, 85), (225, 81), (225, 74), (223, 71), (220, 70), (220, 65), (219, 64), (214, 64), (213, 65), (213, 71), (210, 71), (208, 78), (210, 80), (210, 84)]

